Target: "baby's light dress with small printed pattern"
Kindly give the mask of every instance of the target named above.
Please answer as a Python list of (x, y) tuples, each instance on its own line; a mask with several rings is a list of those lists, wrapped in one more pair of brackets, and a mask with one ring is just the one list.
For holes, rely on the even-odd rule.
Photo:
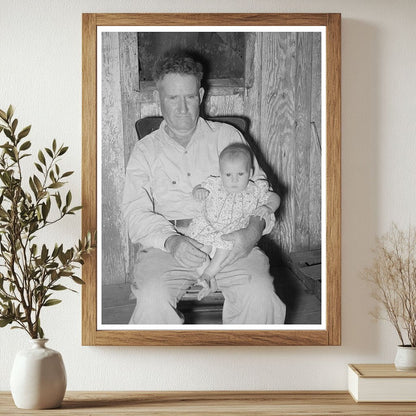
[[(210, 176), (201, 187), (207, 189), (209, 195), (186, 235), (205, 245), (231, 250), (233, 242), (225, 241), (221, 236), (247, 227), (254, 210), (267, 203), (269, 184), (265, 180), (249, 181), (246, 189), (231, 193), (224, 189), (220, 177)], [(273, 214), (270, 220), (275, 222)]]

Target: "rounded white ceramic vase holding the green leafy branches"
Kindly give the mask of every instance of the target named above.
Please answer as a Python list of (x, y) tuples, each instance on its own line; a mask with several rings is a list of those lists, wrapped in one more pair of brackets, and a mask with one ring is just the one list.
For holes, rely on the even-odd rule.
[(13, 363), (10, 388), (20, 409), (59, 407), (66, 390), (66, 372), (59, 352), (45, 347), (47, 339), (32, 339), (32, 347), (19, 351)]

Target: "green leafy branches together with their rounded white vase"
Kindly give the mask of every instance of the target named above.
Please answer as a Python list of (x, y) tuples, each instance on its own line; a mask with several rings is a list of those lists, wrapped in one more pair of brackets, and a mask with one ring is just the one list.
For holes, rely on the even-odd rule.
[(11, 374), (14, 401), (22, 408), (60, 405), (66, 375), (61, 355), (46, 348), (41, 312), (61, 302), (54, 295), (73, 289), (63, 284), (83, 281), (76, 275), (83, 258), (93, 249), (91, 234), (69, 249), (40, 242), (39, 233), (54, 226), (80, 206), (72, 206), (71, 191), (63, 193), (73, 172), (61, 171), (60, 158), (68, 147), (53, 140), (39, 150), (32, 175), (23, 175), (22, 160), (31, 142), (27, 126), (18, 132), (13, 107), (0, 110), (0, 327), (24, 330), (32, 348), (18, 353)]

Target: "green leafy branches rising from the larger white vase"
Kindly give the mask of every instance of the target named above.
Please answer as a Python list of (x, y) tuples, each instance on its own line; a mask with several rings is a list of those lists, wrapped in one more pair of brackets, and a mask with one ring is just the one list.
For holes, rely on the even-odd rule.
[(35, 174), (24, 178), (22, 159), (31, 156), (26, 140), (30, 126), (17, 132), (13, 107), (0, 110), (0, 327), (25, 330), (31, 338), (43, 338), (41, 311), (61, 302), (53, 294), (71, 290), (62, 280), (83, 281), (76, 271), (83, 257), (93, 250), (90, 233), (69, 249), (55, 244), (51, 249), (39, 243), (38, 233), (53, 226), (80, 206), (71, 206), (71, 191), (62, 192), (72, 171), (62, 172), (58, 162), (68, 147), (53, 140), (39, 150)]

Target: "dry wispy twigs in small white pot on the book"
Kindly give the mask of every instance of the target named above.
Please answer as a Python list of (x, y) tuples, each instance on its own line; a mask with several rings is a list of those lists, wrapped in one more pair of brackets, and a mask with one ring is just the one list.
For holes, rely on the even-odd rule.
[(394, 364), (398, 370), (416, 370), (416, 228), (406, 231), (393, 224), (377, 240), (374, 261), (363, 275), (400, 339)]

